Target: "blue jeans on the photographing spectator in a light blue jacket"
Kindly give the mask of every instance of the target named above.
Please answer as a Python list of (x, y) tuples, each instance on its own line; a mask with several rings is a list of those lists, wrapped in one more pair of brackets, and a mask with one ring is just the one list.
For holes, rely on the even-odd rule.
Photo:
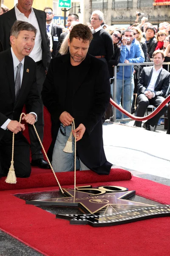
[[(123, 88), (123, 80), (117, 79), (116, 81), (116, 103), (121, 105), (121, 98), (122, 98), (122, 88)], [(131, 91), (130, 91), (130, 84)], [(134, 79), (133, 76), (127, 79), (124, 79), (124, 90), (123, 90), (123, 108), (130, 113), (131, 105), (133, 102), (133, 91), (134, 91)], [(130, 98), (131, 98), (131, 105), (130, 105)], [(125, 114), (123, 114), (123, 118), (128, 118)], [(122, 112), (116, 109), (116, 119), (122, 119)]]

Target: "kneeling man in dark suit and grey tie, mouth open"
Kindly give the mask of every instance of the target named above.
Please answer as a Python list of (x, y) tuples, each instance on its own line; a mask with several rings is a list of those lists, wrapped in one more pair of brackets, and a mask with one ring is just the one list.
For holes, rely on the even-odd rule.
[(36, 64), (28, 55), (34, 47), (37, 30), (28, 22), (17, 20), (11, 29), (11, 48), (0, 52), (0, 176), (8, 174), (14, 137), (14, 169), (17, 177), (29, 177), (29, 143), (22, 134), (22, 119), (33, 125), (40, 110), (36, 83)]

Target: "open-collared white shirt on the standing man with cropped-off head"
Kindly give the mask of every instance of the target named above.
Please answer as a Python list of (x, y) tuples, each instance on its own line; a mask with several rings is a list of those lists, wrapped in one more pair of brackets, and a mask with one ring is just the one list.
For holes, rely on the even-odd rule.
[(35, 45), (31, 53), (29, 54), (29, 57), (33, 58), (35, 62), (41, 61), (42, 60), (42, 48), (41, 48), (42, 38), (41, 38), (40, 28), (38, 26), (38, 22), (37, 22), (37, 18), (35, 16), (34, 10), (31, 7), (31, 13), (27, 18), (22, 12), (18, 10), (17, 4), (16, 4), (15, 15), (17, 17), (17, 20), (27, 21), (37, 29), (37, 34), (35, 37)]

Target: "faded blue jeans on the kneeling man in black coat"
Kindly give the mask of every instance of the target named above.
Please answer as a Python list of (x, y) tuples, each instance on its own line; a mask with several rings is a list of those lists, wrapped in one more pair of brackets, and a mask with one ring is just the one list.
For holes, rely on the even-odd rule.
[[(60, 126), (62, 132), (66, 135), (63, 135), (59, 129), (57, 134), (57, 139), (54, 145), (53, 157), (52, 157), (52, 166), (54, 172), (70, 172), (74, 171), (74, 137), (72, 136), (72, 150), (73, 153), (65, 153), (63, 149), (71, 133), (71, 126), (65, 126), (65, 130)], [(80, 171), (89, 170), (82, 161), (76, 157), (76, 169)]]

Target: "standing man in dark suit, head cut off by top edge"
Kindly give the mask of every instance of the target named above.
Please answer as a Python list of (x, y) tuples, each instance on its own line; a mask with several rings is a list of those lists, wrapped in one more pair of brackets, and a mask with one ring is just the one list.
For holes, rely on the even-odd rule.
[[(27, 21), (35, 26), (37, 29), (35, 45), (29, 56), (36, 62), (37, 88), (41, 100), (42, 84), (45, 79), (45, 72), (48, 69), (51, 60), (51, 52), (50, 42), (46, 32), (46, 14), (43, 11), (32, 8), (32, 3), (33, 0), (29, 2), (25, 0), (18, 0), (17, 5), (13, 9), (3, 15), (0, 15), (0, 41), (3, 44), (3, 50), (10, 47), (10, 30), (15, 20)], [(43, 105), (41, 104), (39, 118), (36, 123), (36, 128), (41, 141), (43, 140), (43, 126)], [(50, 168), (49, 164), (43, 159), (41, 145), (37, 140), (33, 127), (29, 128), (29, 136), (31, 140), (31, 164), (41, 168)]]

